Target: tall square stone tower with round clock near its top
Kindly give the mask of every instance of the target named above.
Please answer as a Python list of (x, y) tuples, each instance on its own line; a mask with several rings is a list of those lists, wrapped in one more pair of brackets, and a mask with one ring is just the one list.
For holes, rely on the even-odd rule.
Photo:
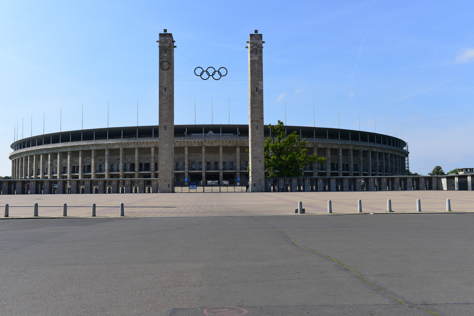
[(174, 41), (160, 33), (159, 40), (158, 192), (173, 192), (174, 183)]

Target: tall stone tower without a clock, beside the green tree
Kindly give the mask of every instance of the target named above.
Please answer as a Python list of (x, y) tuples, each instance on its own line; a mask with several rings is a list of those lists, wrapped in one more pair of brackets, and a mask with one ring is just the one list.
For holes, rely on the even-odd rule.
[(248, 148), (252, 192), (265, 191), (262, 34), (248, 36)]

